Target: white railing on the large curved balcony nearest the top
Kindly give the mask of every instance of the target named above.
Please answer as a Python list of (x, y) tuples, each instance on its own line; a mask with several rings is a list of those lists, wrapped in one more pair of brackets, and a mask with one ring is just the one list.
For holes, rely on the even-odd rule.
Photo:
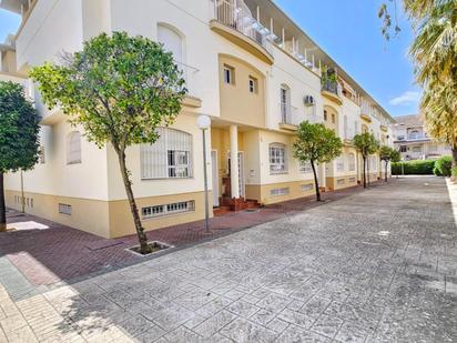
[(214, 0), (214, 19), (251, 38), (268, 53), (272, 53), (272, 47), (267, 39), (271, 32), (252, 17), (250, 9), (243, 1)]

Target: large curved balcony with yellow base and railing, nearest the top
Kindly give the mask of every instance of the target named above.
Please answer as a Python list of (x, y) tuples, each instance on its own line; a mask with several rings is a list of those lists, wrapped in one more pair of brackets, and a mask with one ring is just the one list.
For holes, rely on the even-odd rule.
[(273, 64), (272, 46), (267, 39), (270, 31), (253, 18), (243, 1), (215, 0), (210, 27), (262, 61)]

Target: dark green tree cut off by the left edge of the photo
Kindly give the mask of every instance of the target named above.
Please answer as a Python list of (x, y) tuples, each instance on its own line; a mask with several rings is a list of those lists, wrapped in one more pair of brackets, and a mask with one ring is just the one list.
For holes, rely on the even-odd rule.
[(7, 230), (3, 175), (37, 163), (39, 120), (22, 85), (0, 81), (0, 231)]

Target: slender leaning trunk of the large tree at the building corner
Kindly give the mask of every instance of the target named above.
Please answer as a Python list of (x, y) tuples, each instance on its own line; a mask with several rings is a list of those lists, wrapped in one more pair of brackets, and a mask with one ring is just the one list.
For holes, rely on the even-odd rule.
[(119, 158), (119, 165), (121, 168), (122, 180), (124, 181), (126, 198), (129, 199), (130, 211), (132, 212), (133, 222), (136, 229), (138, 240), (140, 242), (140, 250), (141, 250), (141, 253), (146, 254), (152, 251), (151, 251), (151, 246), (148, 245), (148, 238), (146, 238), (146, 234), (144, 233), (143, 225), (141, 224), (140, 215), (138, 213), (136, 202), (135, 202), (135, 198), (133, 196), (133, 191), (132, 191), (132, 181), (130, 180), (129, 171), (125, 165), (125, 151), (119, 150), (116, 151), (116, 153)]

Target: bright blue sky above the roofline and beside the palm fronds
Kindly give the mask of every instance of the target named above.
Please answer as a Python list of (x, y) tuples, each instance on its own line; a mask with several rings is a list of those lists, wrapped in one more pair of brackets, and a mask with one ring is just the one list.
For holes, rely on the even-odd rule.
[[(407, 50), (412, 32), (400, 16), (399, 37), (386, 42), (377, 10), (382, 0), (274, 0), (392, 115), (417, 113)], [(20, 18), (0, 10), (0, 42), (16, 32)]]

